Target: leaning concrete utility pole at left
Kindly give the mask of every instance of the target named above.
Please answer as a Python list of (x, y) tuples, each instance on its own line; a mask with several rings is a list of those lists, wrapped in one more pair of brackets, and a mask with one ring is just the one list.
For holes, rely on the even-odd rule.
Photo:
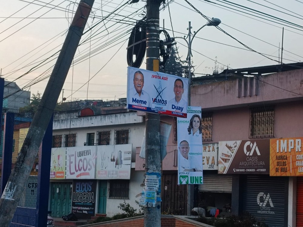
[[(80, 1), (75, 17), (69, 27), (68, 34), (41, 98), (38, 110), (32, 120), (32, 124), (18, 154), (15, 167), (12, 169), (12, 173), (0, 199), (0, 226), (2, 227), (8, 227), (12, 221), (48, 123), (54, 112), (72, 59), (75, 56), (93, 3), (94, 0)], [(50, 163), (44, 164), (50, 165)]]

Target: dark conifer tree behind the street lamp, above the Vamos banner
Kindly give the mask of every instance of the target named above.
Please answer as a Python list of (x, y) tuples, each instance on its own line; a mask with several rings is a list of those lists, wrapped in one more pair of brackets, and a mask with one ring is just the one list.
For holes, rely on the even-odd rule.
[[(188, 78), (188, 62), (181, 61), (175, 46), (171, 46), (171, 53), (168, 57), (167, 64), (164, 70), (162, 70), (161, 72), (176, 75), (178, 77)], [(191, 74), (191, 76), (193, 77), (194, 75)]]

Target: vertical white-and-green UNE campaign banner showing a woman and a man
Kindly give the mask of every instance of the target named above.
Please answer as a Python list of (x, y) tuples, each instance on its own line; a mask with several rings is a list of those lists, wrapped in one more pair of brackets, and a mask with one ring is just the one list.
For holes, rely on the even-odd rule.
[(203, 184), (201, 107), (188, 107), (178, 122), (178, 184)]

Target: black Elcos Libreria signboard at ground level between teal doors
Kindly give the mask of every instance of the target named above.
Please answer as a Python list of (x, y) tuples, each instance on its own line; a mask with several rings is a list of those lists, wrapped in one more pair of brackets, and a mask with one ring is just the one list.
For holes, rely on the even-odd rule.
[(78, 219), (95, 216), (96, 180), (74, 180), (72, 213)]

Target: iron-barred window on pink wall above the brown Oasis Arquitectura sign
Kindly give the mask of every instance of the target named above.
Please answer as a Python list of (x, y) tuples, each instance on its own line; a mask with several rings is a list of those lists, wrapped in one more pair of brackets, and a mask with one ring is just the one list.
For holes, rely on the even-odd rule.
[(250, 109), (249, 138), (274, 137), (274, 107)]

